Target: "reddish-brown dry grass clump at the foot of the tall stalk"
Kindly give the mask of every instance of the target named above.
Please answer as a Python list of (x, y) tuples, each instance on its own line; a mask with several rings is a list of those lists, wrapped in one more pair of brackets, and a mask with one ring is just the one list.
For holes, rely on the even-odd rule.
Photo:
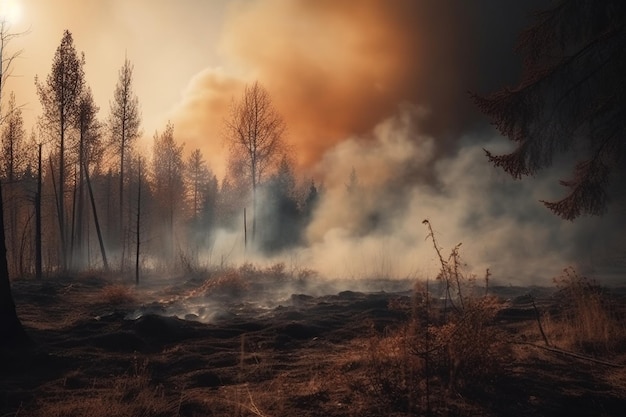
[[(440, 315), (436, 308), (429, 307), (433, 317)], [(373, 330), (363, 349), (364, 372), (352, 381), (365, 409), (445, 414), (450, 399), (462, 398), (472, 384), (497, 379), (510, 360), (509, 345), (493, 325), (500, 308), (494, 297), (468, 298), (445, 322), (427, 324), (422, 316), (382, 334)]]

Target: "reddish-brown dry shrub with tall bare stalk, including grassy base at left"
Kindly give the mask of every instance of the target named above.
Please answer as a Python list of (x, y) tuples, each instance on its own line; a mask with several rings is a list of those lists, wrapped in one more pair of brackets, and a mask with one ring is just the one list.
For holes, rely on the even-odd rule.
[[(428, 221), (429, 237), (441, 263), (433, 297), (428, 283), (416, 283), (412, 300), (394, 300), (389, 308), (407, 311), (404, 327), (368, 339), (364, 394), (381, 411), (420, 413), (449, 410), (452, 393), (489, 384), (510, 358), (509, 345), (494, 319), (502, 303), (478, 288), (465, 272), (460, 244), (443, 257)], [(455, 396), (456, 398), (456, 396)]]

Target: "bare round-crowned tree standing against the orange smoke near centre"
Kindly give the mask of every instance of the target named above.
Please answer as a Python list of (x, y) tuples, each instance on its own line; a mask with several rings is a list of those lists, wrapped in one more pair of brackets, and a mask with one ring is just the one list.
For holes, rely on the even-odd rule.
[(226, 120), (231, 158), (245, 162), (243, 168), (252, 188), (252, 240), (256, 235), (257, 189), (270, 167), (284, 153), (285, 122), (274, 108), (268, 91), (255, 82), (233, 101)]

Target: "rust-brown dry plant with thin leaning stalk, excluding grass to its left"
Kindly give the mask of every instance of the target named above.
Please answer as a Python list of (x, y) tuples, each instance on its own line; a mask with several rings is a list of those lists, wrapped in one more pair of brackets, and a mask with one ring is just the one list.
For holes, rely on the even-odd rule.
[[(422, 223), (428, 228), (428, 237), (439, 258), (437, 280), (443, 285), (444, 297), (443, 306), (439, 308), (441, 303), (431, 300), (435, 311), (430, 312), (433, 308), (426, 310), (426, 328), (422, 329), (425, 331), (416, 331), (425, 336), (416, 340), (414, 352), (428, 362), (432, 375), (448, 388), (461, 387), (470, 379), (492, 376), (508, 356), (507, 344), (494, 325), (502, 305), (486, 291), (476, 290), (476, 276), (466, 273), (461, 261), (461, 244), (454, 246), (448, 258), (444, 258), (432, 225), (428, 220)], [(489, 276), (487, 271), (485, 288)], [(428, 297), (428, 294), (426, 298), (420, 296), (423, 300)]]

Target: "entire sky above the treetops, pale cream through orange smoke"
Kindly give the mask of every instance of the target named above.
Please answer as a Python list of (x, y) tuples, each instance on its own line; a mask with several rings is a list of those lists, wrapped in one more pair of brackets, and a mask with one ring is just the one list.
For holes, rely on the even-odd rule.
[(467, 90), (489, 91), (515, 80), (512, 47), (533, 4), (0, 1), (17, 5), (15, 30), (28, 30), (12, 42), (23, 53), (7, 85), (24, 103), (27, 125), (41, 112), (34, 77), (47, 77), (69, 29), (85, 53), (86, 79), (102, 119), (126, 55), (135, 66), (144, 136), (151, 139), (171, 119), (177, 139), (189, 151), (200, 147), (218, 172), (222, 121), (233, 97), (254, 80), (269, 89), (284, 115), (302, 166), (348, 136), (370, 131), (403, 102), (429, 112), (424, 129), (441, 141), (456, 137), (484, 122)]

